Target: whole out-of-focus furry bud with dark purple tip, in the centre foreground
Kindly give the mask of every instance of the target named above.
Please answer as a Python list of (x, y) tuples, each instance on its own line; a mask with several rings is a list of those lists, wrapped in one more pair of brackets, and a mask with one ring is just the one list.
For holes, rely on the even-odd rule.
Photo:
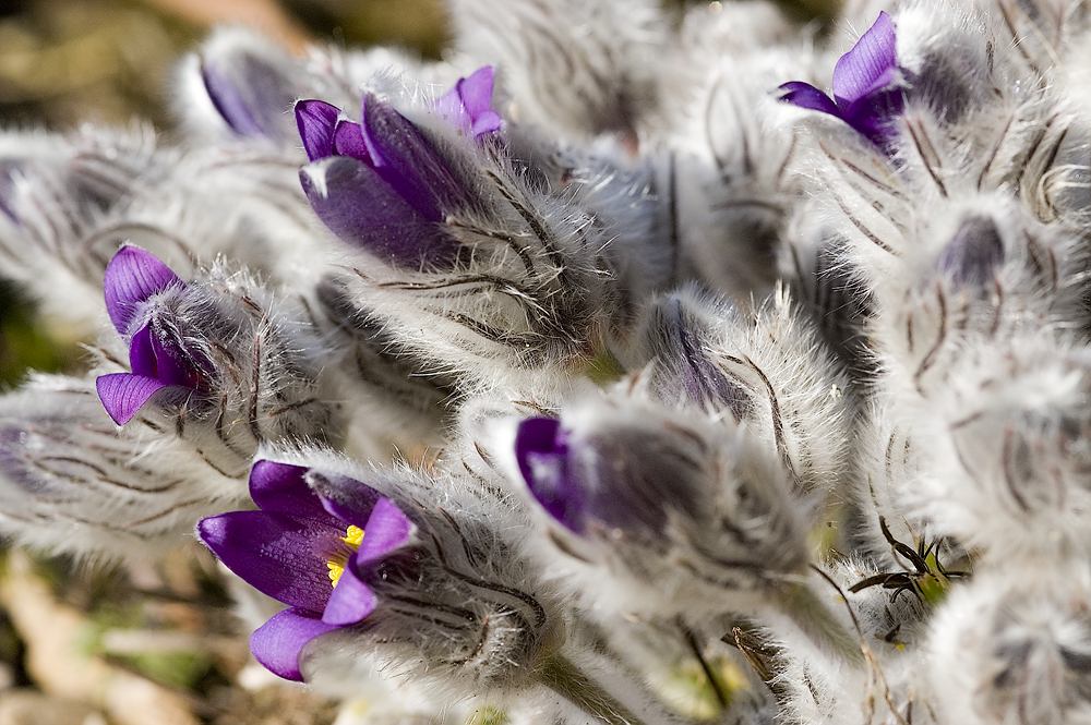
[[(611, 399), (520, 422), (514, 463), (596, 606), (747, 609), (808, 561), (786, 471), (732, 423)], [(609, 587), (592, 583), (603, 577)], [(648, 588), (670, 594), (625, 594)]]

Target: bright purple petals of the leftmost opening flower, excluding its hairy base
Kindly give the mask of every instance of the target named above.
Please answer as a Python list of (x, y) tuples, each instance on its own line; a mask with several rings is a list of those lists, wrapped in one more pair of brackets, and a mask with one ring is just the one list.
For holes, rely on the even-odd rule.
[[(136, 246), (123, 246), (106, 267), (106, 311), (115, 329), (129, 335), (141, 307), (152, 298), (185, 282), (154, 255)], [(113, 422), (124, 425), (159, 390), (196, 390), (205, 377), (199, 359), (166, 334), (154, 317), (129, 338), (131, 373), (101, 375), (95, 385), (103, 407)]]

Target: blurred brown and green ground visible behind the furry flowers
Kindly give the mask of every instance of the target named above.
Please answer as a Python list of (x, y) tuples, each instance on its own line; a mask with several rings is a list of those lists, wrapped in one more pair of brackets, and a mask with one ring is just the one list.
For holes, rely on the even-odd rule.
[[(834, 2), (783, 0), (801, 20), (828, 17)], [(297, 50), (313, 39), (439, 57), (446, 37), (442, 0), (0, 0), (0, 129), (133, 118), (169, 129), (175, 63), (218, 23)], [(29, 370), (79, 367), (74, 331), (2, 278), (0, 390)], [(0, 725), (334, 723), (333, 703), (261, 687), (268, 676), (248, 668), (223, 584), (195, 549), (121, 570), (0, 542)]]

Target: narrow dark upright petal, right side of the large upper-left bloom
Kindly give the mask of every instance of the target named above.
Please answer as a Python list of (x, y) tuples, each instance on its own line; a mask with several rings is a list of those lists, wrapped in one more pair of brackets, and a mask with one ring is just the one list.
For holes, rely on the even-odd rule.
[(470, 205), (469, 190), (406, 117), (372, 95), (363, 99), (363, 141), (379, 176), (430, 221)]

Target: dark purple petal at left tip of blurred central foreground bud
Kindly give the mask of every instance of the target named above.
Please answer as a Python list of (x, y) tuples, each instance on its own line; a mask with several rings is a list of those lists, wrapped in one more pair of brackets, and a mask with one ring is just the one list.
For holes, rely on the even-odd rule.
[(573, 480), (567, 457), (560, 421), (531, 418), (519, 424), (515, 458), (530, 493), (550, 516), (579, 533), (584, 529), (586, 492)]

